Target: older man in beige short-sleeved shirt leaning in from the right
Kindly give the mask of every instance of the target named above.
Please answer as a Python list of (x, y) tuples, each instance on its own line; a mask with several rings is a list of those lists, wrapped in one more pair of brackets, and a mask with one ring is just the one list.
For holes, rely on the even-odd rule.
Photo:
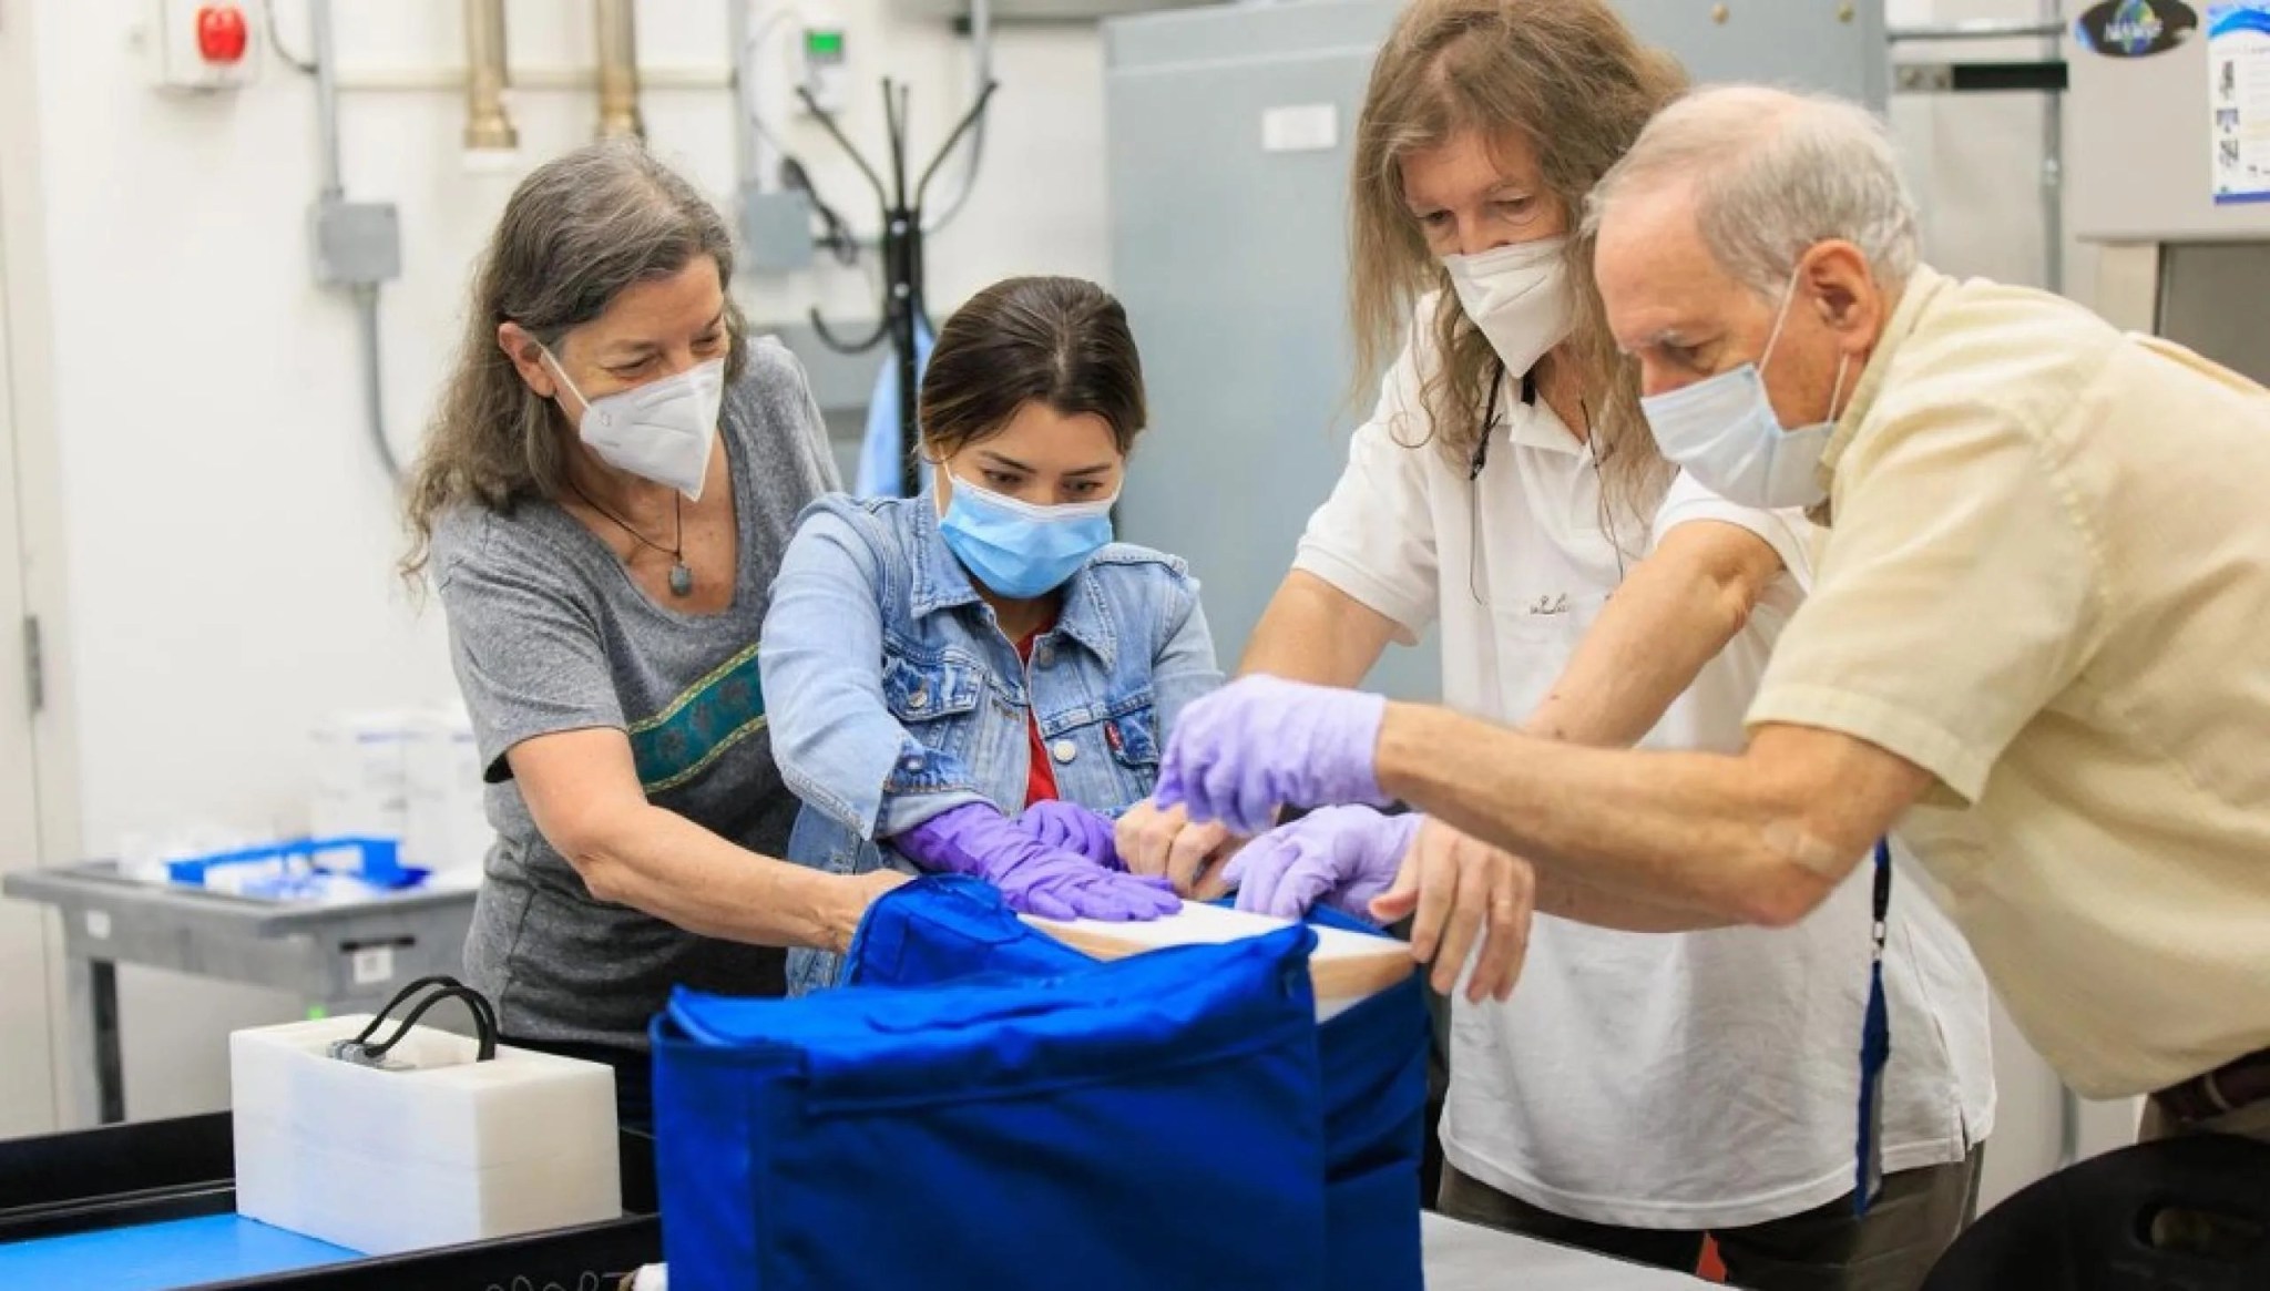
[(1185, 715), (1162, 799), (1401, 796), (1528, 858), (1435, 830), (1376, 905), (1416, 905), (1421, 955), (1482, 942), (1482, 989), (1530, 898), (1780, 926), (1898, 830), (2066, 1082), (2270, 1139), (2270, 393), (1918, 265), (1880, 123), (1834, 100), (1675, 104), (1591, 225), (1664, 454), (1830, 524), (1748, 749), (1248, 681)]

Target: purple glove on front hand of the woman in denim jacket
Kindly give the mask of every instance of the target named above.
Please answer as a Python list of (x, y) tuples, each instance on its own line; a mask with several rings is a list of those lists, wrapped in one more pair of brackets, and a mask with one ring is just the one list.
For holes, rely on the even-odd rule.
[(1051, 849), (1017, 828), (992, 803), (962, 803), (899, 833), (890, 846), (922, 869), (983, 878), (1010, 910), (1042, 919), (1158, 919), (1183, 908), (1167, 878), (1103, 869), (1085, 855)]

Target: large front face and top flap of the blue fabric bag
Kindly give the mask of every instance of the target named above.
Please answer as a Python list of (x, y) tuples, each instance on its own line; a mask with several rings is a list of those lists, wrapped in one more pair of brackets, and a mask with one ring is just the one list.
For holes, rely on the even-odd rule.
[(672, 1286), (1326, 1286), (1314, 933), (1094, 962), (922, 917), (997, 905), (969, 887), (906, 885), (860, 933), (856, 964), (910, 933), (892, 962), (928, 985), (672, 996), (651, 1028)]

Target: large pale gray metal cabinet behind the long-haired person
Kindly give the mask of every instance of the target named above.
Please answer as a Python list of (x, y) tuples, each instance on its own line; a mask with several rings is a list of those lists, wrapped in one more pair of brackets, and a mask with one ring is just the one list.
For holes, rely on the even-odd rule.
[[(1882, 109), (1882, 5), (1630, 0), (1698, 82), (1777, 82)], [(1224, 667), (1346, 463), (1346, 209), (1355, 116), (1401, 5), (1298, 0), (1103, 25), (1112, 290), (1142, 345), (1151, 431), (1121, 531), (1189, 558)], [(1371, 685), (1439, 694), (1432, 647)]]

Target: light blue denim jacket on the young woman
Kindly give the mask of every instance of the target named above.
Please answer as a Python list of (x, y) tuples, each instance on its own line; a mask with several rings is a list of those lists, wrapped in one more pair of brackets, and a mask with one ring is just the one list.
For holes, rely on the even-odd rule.
[[(788, 858), (831, 874), (949, 808), (1024, 808), (1031, 735), (1058, 796), (1119, 812), (1151, 794), (1176, 715), (1221, 685), (1183, 560), (1115, 542), (1062, 588), (1033, 663), (947, 549), (928, 497), (824, 497), (781, 558), (758, 653), (772, 751), (799, 799)], [(790, 989), (835, 957), (790, 953)]]

